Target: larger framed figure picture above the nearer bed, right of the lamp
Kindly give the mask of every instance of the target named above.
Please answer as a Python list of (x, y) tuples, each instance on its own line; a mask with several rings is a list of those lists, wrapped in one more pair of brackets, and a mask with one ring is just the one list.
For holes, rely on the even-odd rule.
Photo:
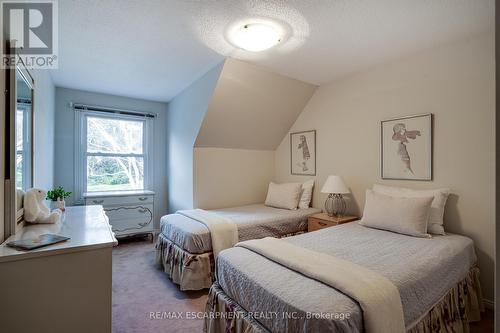
[(432, 180), (432, 113), (380, 122), (382, 179)]

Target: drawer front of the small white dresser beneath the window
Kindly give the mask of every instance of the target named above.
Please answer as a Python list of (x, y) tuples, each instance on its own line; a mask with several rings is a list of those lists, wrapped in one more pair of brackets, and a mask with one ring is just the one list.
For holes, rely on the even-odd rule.
[(153, 231), (153, 205), (105, 207), (113, 232), (117, 236)]

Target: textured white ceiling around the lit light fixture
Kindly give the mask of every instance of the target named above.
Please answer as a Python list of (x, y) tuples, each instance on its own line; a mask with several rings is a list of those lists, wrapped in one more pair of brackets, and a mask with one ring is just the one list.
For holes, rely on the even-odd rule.
[[(249, 17), (288, 36), (253, 54), (227, 28)], [(323, 84), (492, 29), (494, 0), (64, 0), (57, 86), (168, 101), (224, 56)]]

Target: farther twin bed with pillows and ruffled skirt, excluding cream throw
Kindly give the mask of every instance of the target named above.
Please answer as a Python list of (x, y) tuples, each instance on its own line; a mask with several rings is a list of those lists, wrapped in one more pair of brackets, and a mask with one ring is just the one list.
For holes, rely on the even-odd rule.
[[(233, 224), (237, 241), (286, 237), (307, 230), (308, 216), (321, 210), (310, 207), (314, 181), (269, 184), (266, 202), (210, 210), (214, 219)], [(213, 215), (212, 215), (213, 214)], [(214, 278), (213, 230), (189, 212), (165, 215), (160, 220), (156, 258), (181, 290), (209, 288)], [(217, 253), (215, 253), (216, 255)]]

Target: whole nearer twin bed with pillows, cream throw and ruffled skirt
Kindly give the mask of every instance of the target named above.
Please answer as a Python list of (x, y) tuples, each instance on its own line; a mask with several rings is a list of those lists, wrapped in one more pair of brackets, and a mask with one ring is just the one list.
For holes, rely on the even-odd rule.
[[(267, 252), (255, 250), (256, 244), (265, 248), (266, 239), (239, 243), (223, 251), (206, 306), (214, 316), (205, 317), (205, 331), (394, 331), (377, 329), (367, 319), (369, 309), (363, 308), (367, 299), (374, 301), (372, 292), (386, 285), (366, 287), (358, 283), (353, 287), (345, 279), (363, 281), (365, 277), (353, 277), (347, 271), (344, 280), (342, 273), (327, 279), (328, 283), (322, 280), (321, 271), (327, 271), (328, 278), (349, 265), (362, 267), (360, 272), (368, 270), (376, 281), (381, 277), (399, 293), (396, 302), (401, 313), (384, 316), (381, 309), (378, 317), (383, 320), (379, 324), (399, 321), (402, 326), (397, 332), (468, 331), (468, 322), (478, 320), (482, 309), (479, 270), (471, 239), (445, 233), (441, 228), (428, 228), (429, 221), (443, 225), (443, 191), (422, 194), (407, 189), (380, 189), (375, 186), (367, 191), (360, 222), (271, 240), (274, 247), (268, 247)], [(392, 195), (388, 191), (393, 191)], [(437, 215), (433, 216), (432, 211)], [(281, 247), (295, 247), (298, 252), (288, 253), (303, 251), (310, 260), (294, 261)], [(332, 259), (325, 263), (338, 262), (339, 266), (311, 271), (311, 267), (322, 267), (325, 257)], [(349, 285), (350, 289), (346, 288)], [(378, 295), (377, 304), (395, 302), (394, 297), (384, 296), (385, 289)], [(376, 310), (371, 310), (375, 317)], [(255, 313), (268, 315), (252, 315)]]

